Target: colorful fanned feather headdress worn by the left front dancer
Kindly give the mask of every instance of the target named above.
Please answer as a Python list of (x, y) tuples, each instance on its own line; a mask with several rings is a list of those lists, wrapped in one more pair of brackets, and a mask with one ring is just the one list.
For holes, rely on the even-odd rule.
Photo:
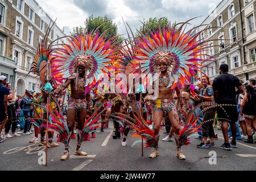
[(104, 35), (97, 32), (69, 37), (67, 44), (58, 49), (53, 61), (54, 70), (63, 78), (75, 76), (78, 65), (86, 68), (85, 86), (93, 87), (101, 73), (107, 74), (113, 68), (118, 43), (112, 39), (105, 40)]

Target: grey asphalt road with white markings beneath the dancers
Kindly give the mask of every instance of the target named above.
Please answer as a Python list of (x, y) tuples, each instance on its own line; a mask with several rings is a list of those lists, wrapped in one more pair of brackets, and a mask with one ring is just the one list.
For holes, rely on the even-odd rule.
[[(163, 131), (165, 129), (163, 128)], [(96, 138), (90, 142), (82, 143), (82, 150), (88, 156), (75, 156), (76, 139), (71, 140), (70, 155), (66, 161), (61, 161), (64, 145), (48, 148), (48, 165), (39, 164), (42, 161), (44, 147), (28, 143), (33, 135), (22, 135), (6, 139), (0, 143), (0, 171), (229, 171), (229, 170), (256, 170), (256, 144), (246, 144), (242, 140), (237, 141), (237, 148), (232, 151), (221, 150), (224, 143), (222, 133), (216, 130), (219, 138), (215, 140), (215, 148), (196, 148), (200, 140), (192, 138), (189, 146), (184, 146), (183, 154), (186, 160), (176, 158), (175, 142), (162, 142), (167, 135), (160, 134), (159, 154), (156, 159), (150, 159), (151, 148), (144, 148), (144, 156), (141, 155), (141, 144), (131, 147), (137, 138), (127, 138), (127, 146), (121, 146), (121, 139), (113, 139), (113, 124), (105, 129), (104, 133), (96, 133)], [(109, 140), (108, 140), (109, 138)], [(209, 164), (210, 151), (216, 152), (216, 164)], [(211, 160), (213, 161), (213, 160)]]

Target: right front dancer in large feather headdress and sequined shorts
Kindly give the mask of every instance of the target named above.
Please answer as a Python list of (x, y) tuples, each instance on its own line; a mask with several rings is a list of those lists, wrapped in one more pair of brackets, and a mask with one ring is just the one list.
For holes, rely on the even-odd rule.
[[(191, 19), (192, 20), (192, 19)], [(163, 114), (166, 113), (174, 127), (175, 134), (179, 135), (182, 130), (177, 110), (174, 104), (173, 94), (176, 91), (179, 97), (181, 110), (183, 108), (183, 98), (180, 97), (180, 88), (185, 82), (190, 82), (191, 76), (195, 76), (195, 71), (200, 72), (198, 61), (201, 52), (208, 48), (207, 42), (197, 40), (198, 34), (193, 34), (191, 30), (185, 32), (185, 24), (190, 20), (174, 26), (162, 28), (162, 30), (151, 31), (151, 35), (141, 35), (137, 41), (135, 52), (136, 59), (133, 64), (138, 73), (140, 68), (142, 73), (156, 74), (159, 73), (159, 90), (158, 98), (154, 98), (154, 134), (156, 143), (150, 158), (159, 156), (158, 140), (160, 123)], [(150, 78), (150, 77), (149, 77)], [(152, 78), (150, 78), (152, 82)], [(156, 92), (156, 91), (155, 91)], [(184, 112), (184, 111), (183, 111)], [(185, 159), (181, 151), (181, 146), (177, 146), (177, 158)]]

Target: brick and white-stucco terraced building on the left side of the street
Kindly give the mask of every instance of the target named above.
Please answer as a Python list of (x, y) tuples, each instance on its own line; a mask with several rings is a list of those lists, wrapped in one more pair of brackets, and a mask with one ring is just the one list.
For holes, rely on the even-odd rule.
[[(39, 91), (38, 79), (27, 73), (50, 22), (53, 20), (35, 0), (0, 2), (0, 74), (7, 76), (17, 94), (25, 89)], [(64, 32), (54, 24), (50, 42), (61, 36)]]

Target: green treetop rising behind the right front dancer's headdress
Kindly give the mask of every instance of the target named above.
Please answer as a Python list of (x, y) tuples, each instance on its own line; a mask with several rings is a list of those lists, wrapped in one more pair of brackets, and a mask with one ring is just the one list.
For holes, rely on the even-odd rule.
[[(143, 34), (148, 34), (150, 35), (150, 30), (155, 30), (158, 31), (159, 28), (160, 30), (163, 30), (164, 28), (167, 28), (170, 26), (170, 21), (168, 20), (167, 17), (162, 17), (162, 18), (150, 18), (146, 22), (143, 22), (143, 25), (139, 27), (139, 31), (137, 31), (137, 35), (141, 33)], [(150, 29), (150, 30), (148, 30)]]

